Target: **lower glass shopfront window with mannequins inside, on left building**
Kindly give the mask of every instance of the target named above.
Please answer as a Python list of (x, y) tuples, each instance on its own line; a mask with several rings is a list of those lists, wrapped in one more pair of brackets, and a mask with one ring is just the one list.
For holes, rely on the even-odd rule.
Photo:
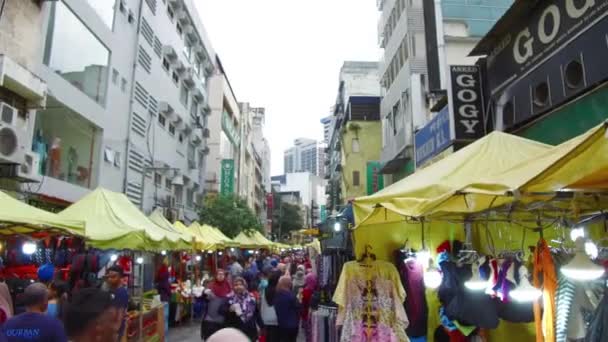
[(32, 150), (39, 173), (84, 188), (95, 188), (99, 131), (82, 116), (50, 99), (36, 115)]

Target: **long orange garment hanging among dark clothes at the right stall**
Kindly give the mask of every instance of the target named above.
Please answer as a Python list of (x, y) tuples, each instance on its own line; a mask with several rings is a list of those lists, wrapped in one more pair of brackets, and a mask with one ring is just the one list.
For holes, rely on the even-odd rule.
[[(542, 280), (541, 280), (542, 279)], [(534, 251), (534, 287), (542, 288), (543, 305), (541, 314), (540, 300), (534, 303), (534, 322), (536, 342), (555, 342), (555, 294), (557, 275), (549, 246), (544, 239), (538, 241)]]

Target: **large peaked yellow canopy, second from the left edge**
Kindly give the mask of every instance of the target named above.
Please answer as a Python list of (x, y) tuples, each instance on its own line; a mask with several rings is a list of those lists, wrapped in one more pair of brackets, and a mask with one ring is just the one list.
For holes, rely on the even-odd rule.
[(177, 234), (150, 221), (124, 195), (98, 188), (58, 214), (86, 222), (85, 236), (100, 249), (158, 251), (176, 247)]

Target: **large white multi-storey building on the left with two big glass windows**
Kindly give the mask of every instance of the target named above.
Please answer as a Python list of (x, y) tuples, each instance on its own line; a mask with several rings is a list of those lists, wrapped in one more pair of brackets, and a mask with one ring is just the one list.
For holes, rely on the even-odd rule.
[(22, 55), (49, 94), (29, 144), (40, 205), (61, 209), (102, 186), (144, 212), (196, 219), (215, 54), (193, 0), (13, 3), (41, 13), (38, 45)]

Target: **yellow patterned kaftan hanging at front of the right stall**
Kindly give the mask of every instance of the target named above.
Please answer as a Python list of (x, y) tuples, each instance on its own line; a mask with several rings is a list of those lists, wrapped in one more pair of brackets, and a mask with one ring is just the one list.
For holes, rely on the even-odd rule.
[(333, 300), (340, 307), (342, 342), (409, 342), (405, 290), (395, 266), (386, 261), (347, 262)]

